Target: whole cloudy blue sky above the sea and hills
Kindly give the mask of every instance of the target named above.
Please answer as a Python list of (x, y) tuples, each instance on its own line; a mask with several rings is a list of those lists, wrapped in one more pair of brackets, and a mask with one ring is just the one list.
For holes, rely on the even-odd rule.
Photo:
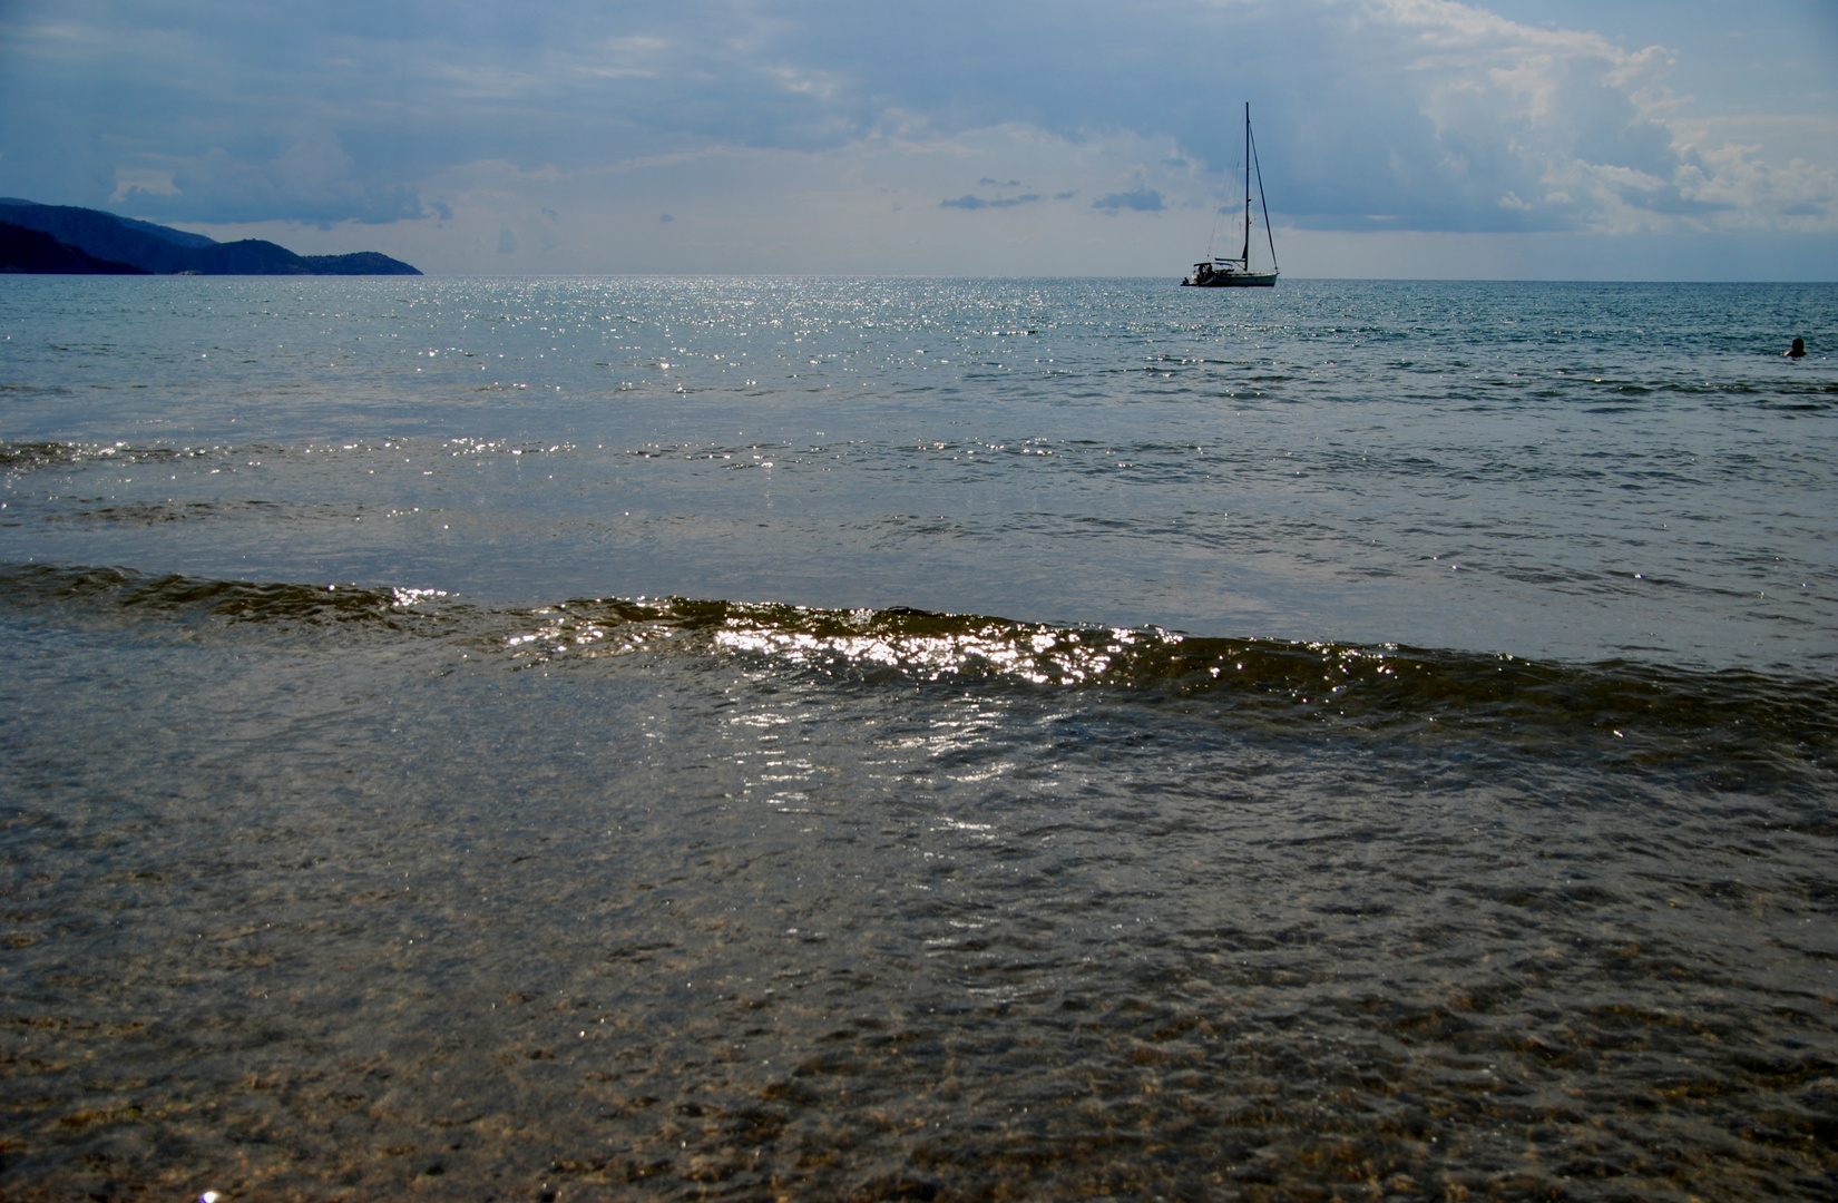
[(439, 274), (1178, 275), (1246, 103), (1287, 275), (1838, 279), (1838, 0), (0, 0), (0, 195)]

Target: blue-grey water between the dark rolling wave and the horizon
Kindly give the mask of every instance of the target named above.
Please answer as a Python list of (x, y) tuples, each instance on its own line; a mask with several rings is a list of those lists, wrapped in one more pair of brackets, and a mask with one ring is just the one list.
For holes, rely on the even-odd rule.
[(13, 562), (1832, 665), (1831, 287), (53, 279)]

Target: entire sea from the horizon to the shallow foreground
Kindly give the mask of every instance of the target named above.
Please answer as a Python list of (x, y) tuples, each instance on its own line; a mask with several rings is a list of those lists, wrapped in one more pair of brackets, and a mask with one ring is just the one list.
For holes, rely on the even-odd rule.
[(1838, 1197), (1834, 285), (0, 336), (0, 1197)]

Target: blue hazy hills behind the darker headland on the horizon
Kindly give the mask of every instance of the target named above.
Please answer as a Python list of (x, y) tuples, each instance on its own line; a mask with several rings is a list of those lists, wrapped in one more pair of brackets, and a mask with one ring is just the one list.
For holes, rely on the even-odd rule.
[(0, 198), (0, 222), (48, 233), (86, 259), (129, 264), (160, 275), (180, 272), (195, 275), (421, 275), (401, 259), (390, 259), (373, 250), (353, 255), (296, 255), (285, 246), (261, 239), (217, 242), (202, 233), (154, 226), (101, 209), (37, 204), (13, 197)]

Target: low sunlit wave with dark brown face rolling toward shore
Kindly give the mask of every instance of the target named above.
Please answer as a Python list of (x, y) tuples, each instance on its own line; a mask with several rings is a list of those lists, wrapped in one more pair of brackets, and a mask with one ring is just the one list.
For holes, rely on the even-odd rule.
[(487, 608), (436, 590), (0, 568), (0, 610), (222, 635), (436, 639), (480, 663), (586, 670), (629, 656), (752, 665), (838, 687), (1072, 691), (1195, 722), (1367, 738), (1491, 738), (1551, 755), (1825, 777), (1838, 681), (1748, 669), (1560, 663), (1412, 646), (1197, 637), (969, 613), (669, 599)]

